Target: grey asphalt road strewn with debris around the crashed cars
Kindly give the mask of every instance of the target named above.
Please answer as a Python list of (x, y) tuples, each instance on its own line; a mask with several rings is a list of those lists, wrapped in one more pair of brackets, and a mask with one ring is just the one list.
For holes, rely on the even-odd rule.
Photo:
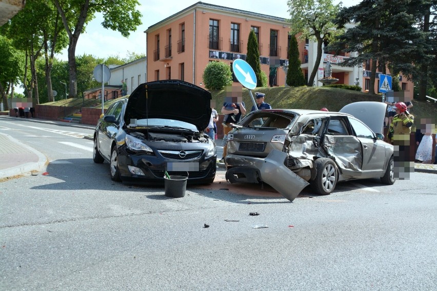
[(0, 289), (437, 289), (433, 174), (344, 182), (293, 202), (226, 183), (169, 198), (112, 182), (81, 138), (90, 130), (6, 127), (50, 164), (0, 183)]

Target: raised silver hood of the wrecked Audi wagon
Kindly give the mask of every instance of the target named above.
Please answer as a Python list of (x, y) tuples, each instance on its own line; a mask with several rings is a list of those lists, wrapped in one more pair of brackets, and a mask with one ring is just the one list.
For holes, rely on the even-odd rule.
[(353, 102), (340, 112), (348, 113), (363, 121), (374, 133), (383, 133), (383, 124), (387, 104), (375, 101)]

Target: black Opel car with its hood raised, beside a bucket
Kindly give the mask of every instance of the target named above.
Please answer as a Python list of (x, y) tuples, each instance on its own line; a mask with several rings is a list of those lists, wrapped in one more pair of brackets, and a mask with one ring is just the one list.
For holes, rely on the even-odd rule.
[(111, 179), (164, 183), (169, 175), (189, 183), (212, 183), (217, 154), (204, 132), (211, 117), (211, 93), (181, 80), (138, 86), (98, 121), (93, 160), (110, 163)]

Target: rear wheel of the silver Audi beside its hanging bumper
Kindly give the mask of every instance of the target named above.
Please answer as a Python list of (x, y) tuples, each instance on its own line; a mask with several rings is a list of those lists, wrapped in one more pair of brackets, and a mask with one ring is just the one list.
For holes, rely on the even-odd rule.
[(314, 181), (311, 182), (311, 188), (319, 195), (331, 194), (339, 177), (334, 161), (330, 158), (316, 159), (315, 169), (317, 174)]

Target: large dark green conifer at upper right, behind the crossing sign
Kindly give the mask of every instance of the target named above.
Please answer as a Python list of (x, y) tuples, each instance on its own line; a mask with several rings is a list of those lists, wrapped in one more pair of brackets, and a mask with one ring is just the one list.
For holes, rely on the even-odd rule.
[(341, 66), (360, 66), (371, 59), (369, 93), (374, 93), (376, 68), (385, 73), (386, 65), (393, 74), (418, 76), (420, 64), (430, 62), (429, 41), (420, 31), (416, 19), (423, 15), (420, 2), (427, 0), (369, 0), (343, 8), (336, 17), (339, 28), (350, 22), (356, 26), (336, 37), (328, 49), (357, 52)]

